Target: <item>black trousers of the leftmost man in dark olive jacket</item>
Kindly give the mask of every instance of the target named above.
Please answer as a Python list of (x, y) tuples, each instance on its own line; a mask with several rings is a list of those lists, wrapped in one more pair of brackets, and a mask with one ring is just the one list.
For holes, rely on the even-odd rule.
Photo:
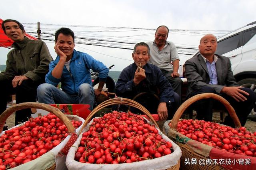
[[(31, 79), (22, 81), (21, 85), (12, 87), (12, 81), (0, 81), (0, 114), (6, 110), (7, 99), (10, 95), (16, 94), (16, 103), (36, 102), (36, 89), (40, 83), (35, 83)], [(28, 121), (31, 117), (31, 109), (16, 111), (15, 125)]]

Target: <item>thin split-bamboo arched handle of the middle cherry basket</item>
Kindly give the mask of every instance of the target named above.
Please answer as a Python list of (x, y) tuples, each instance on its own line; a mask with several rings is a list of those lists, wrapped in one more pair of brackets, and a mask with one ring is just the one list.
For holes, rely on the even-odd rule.
[[(129, 105), (132, 107), (135, 107), (137, 109), (140, 109), (140, 111), (142, 111), (143, 113), (145, 113), (145, 115), (147, 115), (151, 121), (156, 125), (156, 127), (158, 127), (156, 121), (154, 120), (154, 118), (151, 116), (151, 114), (148, 112), (148, 110), (143, 107), (142, 105), (140, 105), (140, 103), (137, 103), (136, 101), (133, 101), (131, 99), (126, 99), (126, 98), (114, 98), (114, 99), (109, 99), (106, 100), (102, 103), (100, 103), (100, 105), (98, 105), (97, 107), (95, 107), (92, 112), (88, 115), (88, 117), (86, 118), (86, 120), (84, 121), (84, 124), (79, 132), (79, 134), (82, 133), (82, 130), (84, 129), (84, 127), (86, 127), (86, 125), (89, 123), (90, 119), (92, 118), (93, 115), (95, 115), (100, 109), (103, 109), (105, 107), (108, 107), (110, 105), (117, 105), (117, 104), (122, 104), (122, 105)], [(159, 128), (159, 127), (158, 127)]]

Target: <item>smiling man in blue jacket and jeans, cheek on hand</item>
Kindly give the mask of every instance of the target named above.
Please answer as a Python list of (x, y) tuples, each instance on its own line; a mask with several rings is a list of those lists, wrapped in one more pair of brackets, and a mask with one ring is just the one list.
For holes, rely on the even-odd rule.
[[(108, 68), (87, 53), (74, 49), (74, 32), (60, 28), (55, 33), (56, 59), (49, 65), (46, 83), (37, 89), (38, 101), (46, 104), (81, 103), (93, 108), (94, 94), (101, 93)], [(98, 89), (93, 90), (90, 69), (99, 73)], [(62, 90), (57, 88), (61, 82)]]

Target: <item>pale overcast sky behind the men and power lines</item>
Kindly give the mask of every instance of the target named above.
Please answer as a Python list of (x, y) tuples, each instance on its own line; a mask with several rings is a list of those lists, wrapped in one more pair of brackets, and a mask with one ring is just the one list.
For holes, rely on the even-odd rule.
[[(154, 40), (158, 26), (166, 25), (178, 30), (235, 30), (256, 21), (255, 0), (13, 0), (1, 1), (0, 18), (15, 19), (24, 23), (82, 25), (102, 27), (148, 28), (148, 36), (132, 39), (133, 42)], [(42, 27), (42, 32), (44, 31)], [(28, 28), (27, 28), (28, 29)], [(56, 31), (57, 27), (52, 31)], [(144, 34), (143, 33), (143, 34)], [(203, 33), (203, 34), (204, 34)], [(124, 35), (122, 35), (124, 34)], [(110, 36), (131, 36), (135, 33), (111, 32)], [(142, 34), (142, 32), (140, 33)], [(203, 34), (170, 32), (168, 39), (176, 46), (198, 47)], [(76, 36), (76, 32), (75, 32)], [(86, 36), (86, 35), (85, 35)], [(54, 42), (45, 41), (52, 57), (56, 58)], [(75, 49), (86, 52), (112, 71), (122, 71), (131, 64), (132, 50), (75, 44)], [(10, 49), (0, 47), (0, 64), (6, 64)], [(180, 55), (180, 64), (192, 56)]]

